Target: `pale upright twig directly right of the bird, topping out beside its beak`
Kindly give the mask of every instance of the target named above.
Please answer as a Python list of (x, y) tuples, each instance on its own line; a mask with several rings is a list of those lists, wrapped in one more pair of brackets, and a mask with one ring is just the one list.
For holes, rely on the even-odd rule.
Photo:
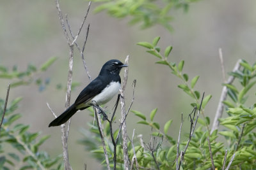
[[(129, 62), (129, 55), (127, 55), (125, 59), (125, 64), (128, 65)], [(124, 90), (127, 84), (127, 79), (128, 79), (128, 67), (125, 67), (124, 70), (124, 80), (123, 80), (123, 86), (122, 89), (120, 89), (120, 106), (121, 106), (121, 118), (124, 120), (124, 123), (122, 124), (122, 138), (123, 138), (123, 152), (124, 152), (124, 169), (128, 170), (129, 169), (129, 156), (128, 156), (128, 148), (127, 148), (127, 129), (126, 129), (126, 111), (125, 111), (125, 99), (124, 99)]]

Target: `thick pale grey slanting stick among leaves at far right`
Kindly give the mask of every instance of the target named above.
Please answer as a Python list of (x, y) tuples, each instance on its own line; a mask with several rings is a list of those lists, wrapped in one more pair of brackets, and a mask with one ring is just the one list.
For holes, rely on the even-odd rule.
[[(236, 72), (237, 70), (239, 70), (239, 68), (241, 67), (240, 66), (241, 61), (242, 61), (241, 59), (237, 60), (236, 66), (234, 67), (232, 72)], [(234, 79), (235, 79), (234, 76), (230, 76), (226, 83), (227, 84), (232, 84)], [(227, 89), (226, 86), (224, 86), (223, 89), (222, 89), (222, 92), (221, 92), (220, 101), (218, 103), (218, 108), (216, 110), (215, 117), (214, 117), (214, 120), (213, 120), (213, 123), (212, 123), (211, 134), (212, 134), (213, 131), (218, 129), (218, 127), (220, 125), (219, 118), (222, 117), (222, 113), (223, 113), (223, 109), (224, 109), (223, 101), (225, 101), (225, 99), (227, 98), (227, 94), (228, 94), (228, 89)]]

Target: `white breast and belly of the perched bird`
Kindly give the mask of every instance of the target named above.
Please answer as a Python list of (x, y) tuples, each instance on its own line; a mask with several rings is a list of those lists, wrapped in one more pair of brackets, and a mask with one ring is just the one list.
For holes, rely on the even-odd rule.
[(95, 101), (97, 104), (105, 104), (110, 101), (116, 94), (121, 87), (119, 82), (112, 81), (100, 94), (93, 97), (92, 101)]

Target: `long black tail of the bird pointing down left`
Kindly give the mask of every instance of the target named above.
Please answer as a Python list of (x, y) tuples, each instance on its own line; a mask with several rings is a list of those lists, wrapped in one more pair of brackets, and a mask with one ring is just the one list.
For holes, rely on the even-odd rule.
[(67, 110), (65, 110), (58, 118), (54, 119), (50, 124), (49, 127), (51, 126), (58, 126), (61, 124), (64, 124), (65, 122), (68, 121), (70, 117), (72, 117), (75, 113), (77, 112), (76, 106), (72, 104)]

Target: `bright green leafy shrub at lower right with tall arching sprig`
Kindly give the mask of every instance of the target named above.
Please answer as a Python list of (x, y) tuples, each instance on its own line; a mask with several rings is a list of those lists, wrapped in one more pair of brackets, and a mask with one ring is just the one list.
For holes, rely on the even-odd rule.
[[(189, 75), (182, 73), (185, 63), (184, 60), (181, 60), (178, 64), (168, 62), (167, 59), (170, 56), (170, 52), (172, 52), (172, 46), (167, 46), (164, 50), (164, 55), (162, 55), (160, 53), (161, 48), (157, 46), (159, 39), (160, 38), (157, 37), (152, 43), (143, 41), (138, 43), (138, 45), (147, 48), (148, 53), (160, 59), (156, 62), (157, 64), (168, 66), (172, 70), (172, 74), (182, 80), (183, 83), (178, 85), (178, 87), (195, 100), (195, 103), (191, 103), (191, 105), (198, 108), (200, 92), (195, 90), (195, 85), (198, 82), (199, 76), (195, 76), (189, 81)], [(250, 93), (250, 90), (255, 87), (255, 80), (253, 79), (256, 74), (256, 64), (250, 66), (250, 64), (243, 60), (241, 66), (242, 68), (239, 71), (230, 73), (230, 75), (235, 76), (236, 80), (239, 81), (241, 88), (239, 89), (231, 84), (223, 84), (228, 88), (228, 99), (223, 102), (226, 106), (228, 117), (220, 119), (220, 124), (223, 125), (224, 130), (220, 132), (215, 130), (210, 133), (209, 125), (211, 120), (202, 112), (203, 118), (198, 118), (199, 126), (191, 137), (191, 140), (189, 141), (188, 134), (188, 136), (186, 136), (188, 139), (180, 141), (181, 150), (186, 148), (189, 141), (188, 148), (184, 155), (184, 161), (181, 164), (182, 169), (211, 169), (211, 154), (215, 168), (221, 169), (223, 166), (227, 167), (234, 153), (236, 157), (231, 162), (230, 169), (256, 168), (256, 104), (252, 104), (249, 107), (245, 105), (249, 99), (248, 94), (254, 94), (252, 92)], [(207, 106), (210, 99), (211, 95), (204, 98), (202, 108)], [(152, 129), (150, 134), (151, 138), (148, 143), (141, 143), (141, 137), (133, 141), (136, 157), (138, 159), (138, 167), (141, 169), (157, 169), (157, 167), (159, 167), (159, 169), (176, 169), (175, 163), (180, 159), (180, 157), (177, 157), (178, 142), (168, 134), (168, 130), (172, 128), (172, 120), (166, 121), (164, 125), (160, 125), (158, 122), (154, 121), (157, 115), (157, 108), (151, 111), (149, 119), (140, 111), (133, 110), (132, 113), (139, 119), (137, 124), (145, 125), (148, 129)], [(104, 122), (102, 122), (102, 124), (104, 124)], [(84, 139), (81, 139), (80, 143), (86, 146), (86, 149), (90, 150), (93, 156), (104, 164), (105, 160), (103, 148), (100, 143), (99, 131), (92, 123), (89, 125), (91, 127), (90, 131), (81, 130), (84, 134)], [(114, 134), (116, 134), (117, 131), (118, 130), (116, 130)], [(107, 152), (109, 160), (112, 160), (113, 145), (111, 145), (110, 142), (109, 125), (106, 123), (104, 124), (104, 132), (105, 139), (108, 143)], [(220, 136), (226, 139), (225, 142), (220, 142)], [(209, 141), (207, 138), (209, 138)], [(168, 143), (163, 144), (163, 139), (168, 141)], [(209, 145), (211, 146), (211, 150)], [(226, 150), (227, 161), (225, 165), (223, 165)], [(128, 145), (128, 153), (129, 159), (131, 160), (133, 156), (131, 142)], [(121, 143), (117, 144), (116, 155), (118, 158), (117, 168), (121, 169), (124, 166)], [(180, 152), (178, 155), (180, 155)]]

